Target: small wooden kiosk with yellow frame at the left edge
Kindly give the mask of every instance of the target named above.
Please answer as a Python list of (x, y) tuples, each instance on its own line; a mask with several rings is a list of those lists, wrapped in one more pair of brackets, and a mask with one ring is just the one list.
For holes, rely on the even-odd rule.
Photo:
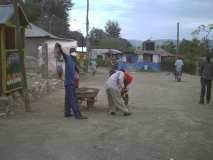
[(17, 7), (22, 33), (22, 41), (19, 43), (22, 51), (16, 41), (15, 9), (10, 3), (0, 5), (0, 95), (22, 89), (21, 58), (24, 54), (24, 32), (29, 23), (22, 7)]

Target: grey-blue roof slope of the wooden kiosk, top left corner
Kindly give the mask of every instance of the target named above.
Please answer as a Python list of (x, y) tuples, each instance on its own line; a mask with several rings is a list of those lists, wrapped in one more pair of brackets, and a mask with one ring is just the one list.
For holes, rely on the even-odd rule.
[(0, 5), (0, 24), (5, 24), (14, 12), (13, 5)]

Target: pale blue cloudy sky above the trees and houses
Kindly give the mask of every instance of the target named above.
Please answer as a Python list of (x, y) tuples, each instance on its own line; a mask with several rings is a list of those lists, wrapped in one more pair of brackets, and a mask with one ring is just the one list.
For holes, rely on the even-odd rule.
[[(85, 34), (86, 1), (72, 0), (71, 30)], [(213, 0), (90, 0), (90, 27), (104, 29), (107, 20), (118, 21), (127, 39), (191, 39), (201, 24), (213, 23)]]

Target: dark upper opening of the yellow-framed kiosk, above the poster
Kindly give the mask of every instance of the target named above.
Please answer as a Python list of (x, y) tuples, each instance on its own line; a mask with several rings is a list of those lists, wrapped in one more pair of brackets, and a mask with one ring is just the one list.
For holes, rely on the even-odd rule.
[(5, 28), (5, 48), (15, 49), (15, 28)]

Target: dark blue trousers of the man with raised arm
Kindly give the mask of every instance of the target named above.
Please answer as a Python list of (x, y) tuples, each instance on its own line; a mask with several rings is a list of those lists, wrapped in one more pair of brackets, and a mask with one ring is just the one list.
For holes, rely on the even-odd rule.
[(76, 87), (74, 85), (65, 86), (65, 105), (64, 105), (64, 115), (70, 115), (71, 110), (75, 117), (81, 115), (79, 104), (75, 92)]

